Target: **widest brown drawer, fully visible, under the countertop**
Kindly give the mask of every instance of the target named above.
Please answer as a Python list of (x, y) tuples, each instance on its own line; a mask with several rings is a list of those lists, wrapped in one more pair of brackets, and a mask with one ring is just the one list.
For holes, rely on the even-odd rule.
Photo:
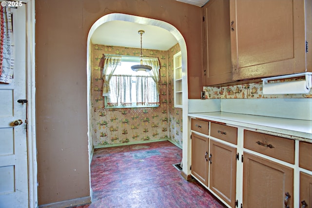
[(294, 140), (244, 130), (244, 148), (294, 164)]

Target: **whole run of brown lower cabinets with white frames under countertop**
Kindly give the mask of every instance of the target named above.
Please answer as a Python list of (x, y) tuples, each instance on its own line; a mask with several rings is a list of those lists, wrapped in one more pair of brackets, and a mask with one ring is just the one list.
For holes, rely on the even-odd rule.
[(312, 206), (309, 140), (212, 117), (191, 117), (191, 132), (191, 175), (226, 207)]

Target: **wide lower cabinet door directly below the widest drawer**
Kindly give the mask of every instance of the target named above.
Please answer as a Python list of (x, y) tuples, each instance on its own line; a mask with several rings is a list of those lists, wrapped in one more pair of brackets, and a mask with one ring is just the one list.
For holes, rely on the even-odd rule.
[(293, 207), (293, 169), (244, 152), (243, 206), (284, 208), (285, 193)]

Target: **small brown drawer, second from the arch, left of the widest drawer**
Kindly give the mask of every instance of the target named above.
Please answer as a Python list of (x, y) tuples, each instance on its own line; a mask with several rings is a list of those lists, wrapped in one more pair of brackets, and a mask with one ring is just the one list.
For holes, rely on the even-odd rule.
[(237, 144), (237, 128), (235, 127), (211, 123), (210, 135), (232, 144)]

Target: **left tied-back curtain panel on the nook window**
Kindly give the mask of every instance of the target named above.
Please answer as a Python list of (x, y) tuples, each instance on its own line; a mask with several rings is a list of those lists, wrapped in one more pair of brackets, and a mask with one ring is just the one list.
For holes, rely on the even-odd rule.
[(98, 66), (102, 71), (103, 91), (102, 96), (110, 95), (109, 82), (116, 70), (116, 67), (121, 64), (121, 56), (104, 55), (101, 57)]

